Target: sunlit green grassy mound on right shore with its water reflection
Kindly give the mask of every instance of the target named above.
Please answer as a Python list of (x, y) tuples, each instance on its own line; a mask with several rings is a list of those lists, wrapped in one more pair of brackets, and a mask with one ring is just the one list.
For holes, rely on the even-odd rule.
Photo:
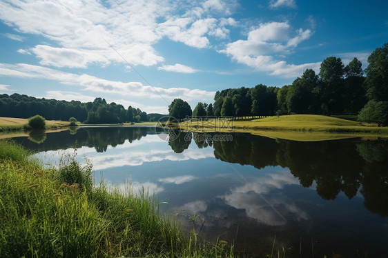
[(388, 137), (387, 127), (322, 115), (286, 115), (233, 121), (233, 128), (232, 123), (225, 123), (219, 119), (206, 122), (185, 121), (180, 123), (180, 128), (196, 132), (249, 132), (271, 138), (305, 141), (376, 135)]

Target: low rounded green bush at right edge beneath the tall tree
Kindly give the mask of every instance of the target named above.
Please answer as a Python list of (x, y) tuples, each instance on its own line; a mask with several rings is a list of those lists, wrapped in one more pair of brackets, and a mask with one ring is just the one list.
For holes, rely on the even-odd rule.
[(388, 101), (369, 101), (358, 114), (358, 120), (388, 126)]

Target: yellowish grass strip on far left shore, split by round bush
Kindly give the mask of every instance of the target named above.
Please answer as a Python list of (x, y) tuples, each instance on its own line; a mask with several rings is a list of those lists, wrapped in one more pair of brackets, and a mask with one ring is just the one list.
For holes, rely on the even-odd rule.
[[(0, 132), (23, 130), (28, 125), (28, 119), (15, 117), (0, 117)], [(64, 128), (68, 121), (46, 120), (46, 129)]]

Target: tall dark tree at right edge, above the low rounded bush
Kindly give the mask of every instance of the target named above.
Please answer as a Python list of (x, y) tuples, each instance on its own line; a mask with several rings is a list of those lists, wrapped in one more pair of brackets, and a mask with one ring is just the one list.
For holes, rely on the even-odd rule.
[(376, 48), (368, 57), (365, 69), (367, 97), (374, 101), (388, 101), (388, 43)]

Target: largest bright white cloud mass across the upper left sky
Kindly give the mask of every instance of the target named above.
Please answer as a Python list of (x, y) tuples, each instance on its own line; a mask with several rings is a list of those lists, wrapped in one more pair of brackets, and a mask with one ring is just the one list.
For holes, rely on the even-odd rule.
[[(182, 15), (180, 3), (158, 0), (113, 1), (108, 6), (97, 0), (12, 0), (0, 2), (0, 19), (18, 32), (55, 42), (55, 46), (45, 43), (32, 48), (45, 66), (86, 68), (92, 63), (104, 66), (126, 61), (133, 66), (155, 66), (164, 58), (153, 45), (163, 37), (195, 48), (207, 48), (208, 37), (228, 37), (225, 26), (233, 24), (233, 19), (219, 22), (212, 13), (231, 14), (237, 6), (234, 0), (191, 5), (191, 11), (183, 10)], [(158, 23), (159, 19), (164, 22)], [(16, 34), (4, 35), (23, 40)]]

